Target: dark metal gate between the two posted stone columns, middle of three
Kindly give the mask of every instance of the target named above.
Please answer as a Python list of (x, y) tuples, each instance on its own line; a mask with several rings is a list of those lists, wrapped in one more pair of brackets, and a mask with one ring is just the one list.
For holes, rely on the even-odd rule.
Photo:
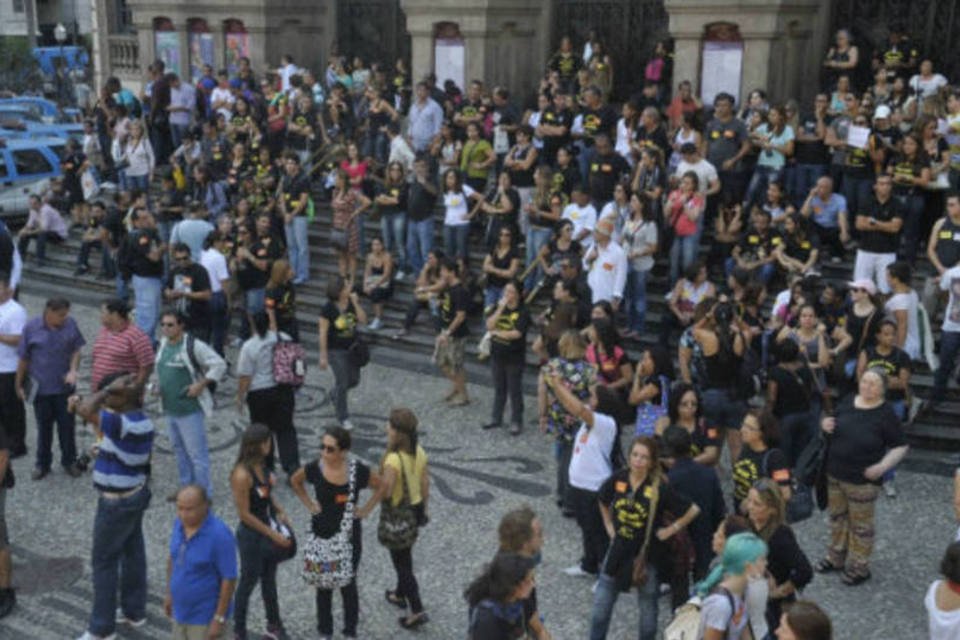
[(668, 27), (663, 0), (558, 0), (553, 50), (563, 36), (581, 46), (595, 31), (613, 61), (614, 97), (624, 100), (640, 89), (643, 67)]

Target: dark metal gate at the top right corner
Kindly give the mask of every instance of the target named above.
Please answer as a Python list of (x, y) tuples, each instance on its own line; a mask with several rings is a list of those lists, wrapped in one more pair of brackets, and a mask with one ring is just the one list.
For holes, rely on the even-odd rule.
[(960, 0), (836, 0), (833, 6), (834, 31), (853, 32), (864, 69), (869, 69), (874, 51), (886, 45), (888, 29), (898, 25), (920, 55), (934, 61), (938, 73), (947, 78), (960, 74), (956, 52), (960, 46)]

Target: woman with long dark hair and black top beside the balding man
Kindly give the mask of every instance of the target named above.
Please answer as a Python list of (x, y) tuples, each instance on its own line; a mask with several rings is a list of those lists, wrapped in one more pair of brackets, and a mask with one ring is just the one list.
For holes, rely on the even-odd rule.
[(254, 587), (260, 583), (260, 595), (271, 638), (286, 638), (280, 621), (277, 598), (277, 554), (290, 548), (292, 541), (278, 530), (282, 523), (292, 528), (286, 512), (273, 495), (274, 477), (266, 465), (273, 446), (273, 434), (262, 424), (253, 423), (243, 432), (240, 452), (230, 474), (230, 489), (240, 524), (237, 548), (240, 551), (240, 580), (234, 596), (233, 624), (237, 638), (247, 637), (247, 606)]

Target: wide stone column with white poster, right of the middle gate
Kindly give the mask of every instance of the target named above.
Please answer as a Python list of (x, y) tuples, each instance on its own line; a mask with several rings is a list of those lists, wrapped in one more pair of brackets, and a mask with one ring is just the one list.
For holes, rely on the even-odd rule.
[(700, 85), (705, 28), (717, 22), (737, 24), (743, 38), (743, 67), (738, 104), (753, 89), (774, 100), (808, 101), (817, 89), (827, 0), (665, 0), (675, 40), (674, 89), (681, 80)]

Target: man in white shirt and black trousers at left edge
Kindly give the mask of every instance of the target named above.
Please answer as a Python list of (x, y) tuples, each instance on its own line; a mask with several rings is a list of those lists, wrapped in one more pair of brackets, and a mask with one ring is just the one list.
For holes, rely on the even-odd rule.
[(0, 272), (0, 430), (7, 436), (10, 457), (26, 455), (27, 415), (17, 395), (17, 348), (27, 324), (27, 310), (13, 299), (10, 274)]

